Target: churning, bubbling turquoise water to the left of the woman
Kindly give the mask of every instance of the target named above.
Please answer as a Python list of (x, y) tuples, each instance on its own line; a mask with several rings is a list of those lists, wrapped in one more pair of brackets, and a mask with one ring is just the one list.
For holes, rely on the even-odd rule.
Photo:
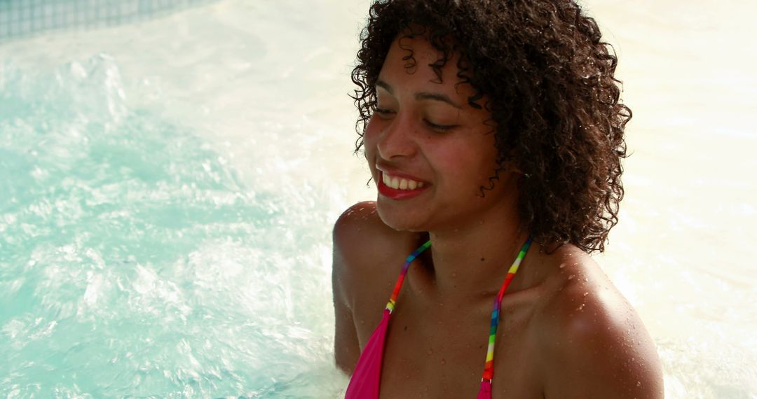
[(0, 391), (273, 394), (330, 364), (318, 193), (129, 107), (111, 57), (0, 71)]

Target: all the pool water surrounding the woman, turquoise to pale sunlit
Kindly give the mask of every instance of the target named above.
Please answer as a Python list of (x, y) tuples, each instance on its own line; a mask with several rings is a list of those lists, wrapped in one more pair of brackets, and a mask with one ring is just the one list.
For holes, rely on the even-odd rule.
[[(262, 3), (0, 40), (0, 396), (338, 397), (330, 230), (375, 196), (346, 95), (366, 2)], [(757, 32), (727, 10), (754, 5), (586, 3), (634, 109), (597, 260), (667, 397), (753, 399)]]

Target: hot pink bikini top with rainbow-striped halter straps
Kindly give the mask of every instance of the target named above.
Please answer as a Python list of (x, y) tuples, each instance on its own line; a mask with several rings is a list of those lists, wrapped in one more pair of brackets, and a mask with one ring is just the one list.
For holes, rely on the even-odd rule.
[[(368, 340), (366, 347), (363, 348), (363, 352), (360, 353), (360, 358), (357, 360), (357, 366), (350, 379), (350, 385), (347, 386), (347, 392), (344, 394), (344, 399), (378, 399), (378, 388), (381, 385), (381, 367), (384, 358), (384, 342), (386, 339), (386, 332), (389, 326), (389, 319), (391, 318), (391, 312), (394, 311), (394, 305), (397, 303), (397, 295), (400, 294), (402, 288), (402, 282), (405, 280), (405, 274), (407, 269), (410, 268), (410, 263), (415, 260), (423, 251), (431, 246), (431, 240), (428, 240), (425, 244), (419, 247), (411, 253), (405, 264), (403, 265), (400, 277), (397, 278), (397, 283), (394, 284), (394, 291), (391, 293), (391, 298), (386, 304), (384, 309), (384, 315), (381, 323), (378, 323), (375, 331)], [(518, 271), (518, 267), (525, 258), (525, 253), (528, 252), (528, 247), (531, 246), (531, 238), (525, 241), (521, 247), (516, 260), (512, 262), (505, 282), (500, 288), (500, 292), (497, 293), (497, 298), (494, 300), (494, 311), (491, 312), (491, 329), (489, 334), (489, 346), (486, 352), (486, 363), (484, 364), (484, 376), (481, 378), (481, 390), (478, 391), (477, 399), (491, 399), (491, 378), (494, 375), (494, 339), (497, 336), (497, 324), (500, 321), (500, 304), (502, 297), (509, 286), (512, 277), (515, 276)]]

